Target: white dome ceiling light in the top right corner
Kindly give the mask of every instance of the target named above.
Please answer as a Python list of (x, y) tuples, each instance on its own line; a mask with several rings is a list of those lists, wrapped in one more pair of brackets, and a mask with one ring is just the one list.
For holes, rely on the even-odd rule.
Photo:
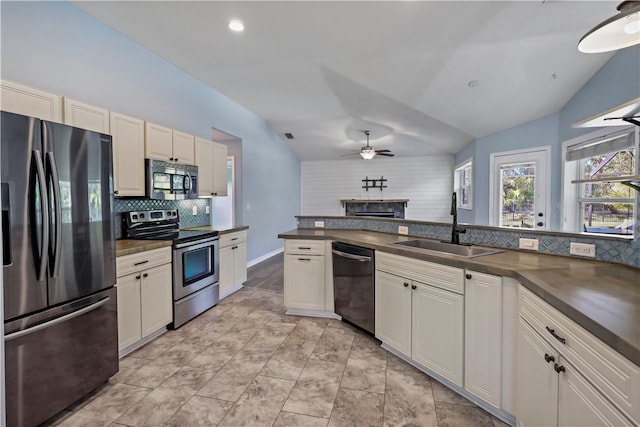
[(623, 1), (619, 14), (594, 27), (578, 42), (584, 53), (600, 53), (640, 44), (640, 1)]

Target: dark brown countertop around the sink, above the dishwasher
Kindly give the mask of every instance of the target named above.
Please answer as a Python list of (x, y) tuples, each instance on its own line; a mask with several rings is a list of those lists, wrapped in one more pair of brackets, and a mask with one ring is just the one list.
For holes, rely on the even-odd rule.
[(513, 277), (640, 366), (640, 270), (603, 261), (505, 250), (477, 258), (392, 243), (420, 237), (365, 230), (296, 229), (282, 239), (336, 240), (383, 252)]

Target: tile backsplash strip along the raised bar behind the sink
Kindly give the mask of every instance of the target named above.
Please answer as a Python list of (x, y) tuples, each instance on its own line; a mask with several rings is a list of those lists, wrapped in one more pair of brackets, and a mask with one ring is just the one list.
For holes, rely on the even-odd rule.
[[(398, 226), (409, 227), (409, 235), (438, 240), (451, 238), (451, 225), (434, 222), (388, 220), (354, 217), (299, 216), (298, 228), (314, 228), (315, 221), (324, 221), (326, 229), (355, 229), (397, 233)], [(640, 222), (640, 220), (639, 220)], [(571, 242), (596, 245), (596, 259), (627, 264), (640, 268), (640, 239), (598, 238), (596, 236), (566, 233), (533, 232), (521, 229), (498, 229), (464, 225), (465, 234), (460, 241), (507, 249), (518, 248), (519, 238), (538, 239), (540, 253), (569, 256)]]

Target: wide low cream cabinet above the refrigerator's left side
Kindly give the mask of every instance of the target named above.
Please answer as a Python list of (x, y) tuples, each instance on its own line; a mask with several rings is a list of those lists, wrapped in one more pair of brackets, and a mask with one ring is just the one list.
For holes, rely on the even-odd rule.
[(7, 80), (0, 80), (3, 111), (62, 123), (62, 97)]

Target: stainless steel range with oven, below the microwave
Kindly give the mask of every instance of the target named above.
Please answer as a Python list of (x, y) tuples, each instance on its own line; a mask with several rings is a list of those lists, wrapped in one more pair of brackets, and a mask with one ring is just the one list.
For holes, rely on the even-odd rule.
[(180, 230), (175, 209), (122, 214), (123, 237), (173, 242), (173, 328), (219, 301), (218, 232)]

